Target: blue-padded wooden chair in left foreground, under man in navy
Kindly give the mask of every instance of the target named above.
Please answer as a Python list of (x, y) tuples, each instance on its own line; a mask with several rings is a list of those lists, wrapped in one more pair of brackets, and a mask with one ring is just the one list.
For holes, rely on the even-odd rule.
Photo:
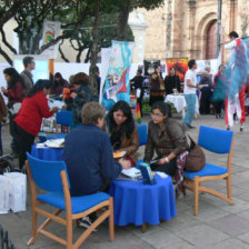
[[(70, 181), (67, 167), (63, 161), (42, 161), (27, 152), (26, 161), (29, 176), (32, 202), (32, 236), (28, 246), (33, 243), (39, 233), (42, 233), (68, 249), (79, 248), (80, 245), (91, 235), (91, 232), (107, 218), (109, 218), (110, 240), (114, 240), (113, 227), (113, 200), (104, 192), (97, 192), (89, 196), (71, 197)], [(46, 190), (46, 193), (37, 196), (36, 186)], [(50, 205), (57, 210), (53, 213), (40, 208), (40, 205)], [(66, 219), (59, 215), (64, 211)], [(101, 216), (72, 242), (72, 221), (99, 211)], [(38, 213), (47, 217), (46, 221), (38, 228)], [(62, 239), (44, 230), (51, 221), (57, 221), (67, 229), (67, 239)]]

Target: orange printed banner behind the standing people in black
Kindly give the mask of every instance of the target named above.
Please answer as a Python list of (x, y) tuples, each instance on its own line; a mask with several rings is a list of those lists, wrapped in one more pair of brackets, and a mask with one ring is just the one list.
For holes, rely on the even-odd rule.
[(180, 81), (185, 81), (185, 73), (188, 71), (188, 58), (170, 58), (166, 60), (168, 73), (175, 68)]

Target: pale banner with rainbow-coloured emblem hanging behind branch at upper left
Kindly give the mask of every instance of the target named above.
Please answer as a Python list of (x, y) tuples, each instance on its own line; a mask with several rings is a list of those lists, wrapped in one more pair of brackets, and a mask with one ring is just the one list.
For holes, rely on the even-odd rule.
[[(43, 22), (43, 36), (42, 46), (48, 44), (51, 40), (56, 39), (60, 34), (61, 22), (44, 20)], [(53, 44), (46, 49), (41, 54), (48, 57), (48, 59), (56, 59), (58, 54), (58, 46)]]

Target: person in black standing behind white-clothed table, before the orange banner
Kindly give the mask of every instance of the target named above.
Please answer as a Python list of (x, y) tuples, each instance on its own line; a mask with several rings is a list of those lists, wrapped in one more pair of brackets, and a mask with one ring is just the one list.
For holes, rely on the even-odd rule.
[(173, 89), (177, 89), (178, 92), (181, 92), (180, 78), (176, 74), (176, 69), (172, 67), (169, 70), (169, 74), (165, 78), (166, 94), (172, 94)]

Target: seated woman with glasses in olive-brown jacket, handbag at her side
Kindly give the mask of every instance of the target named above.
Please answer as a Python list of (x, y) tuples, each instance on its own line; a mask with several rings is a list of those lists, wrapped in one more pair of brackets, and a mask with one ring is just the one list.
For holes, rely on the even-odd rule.
[(156, 151), (160, 160), (156, 165), (151, 165), (151, 169), (175, 176), (177, 158), (187, 151), (189, 146), (183, 127), (170, 117), (170, 106), (168, 103), (162, 101), (153, 103), (143, 160), (150, 162)]

